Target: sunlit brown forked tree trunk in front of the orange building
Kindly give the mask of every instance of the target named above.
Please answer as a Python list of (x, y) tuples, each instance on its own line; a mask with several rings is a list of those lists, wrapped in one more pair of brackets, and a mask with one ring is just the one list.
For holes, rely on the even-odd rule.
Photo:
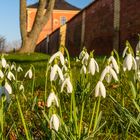
[[(46, 2), (48, 3), (46, 12), (44, 13)], [(22, 46), (19, 50), (20, 53), (32, 53), (35, 50), (38, 37), (47, 24), (49, 17), (53, 11), (55, 0), (39, 0), (39, 6), (33, 27), (29, 33), (27, 33), (27, 15), (26, 15), (26, 0), (20, 0), (20, 31)]]

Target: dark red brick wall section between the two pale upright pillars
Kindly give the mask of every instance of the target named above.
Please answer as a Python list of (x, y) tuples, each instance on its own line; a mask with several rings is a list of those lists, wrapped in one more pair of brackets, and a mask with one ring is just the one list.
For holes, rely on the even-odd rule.
[(99, 0), (86, 9), (85, 46), (109, 54), (113, 46), (113, 0)]

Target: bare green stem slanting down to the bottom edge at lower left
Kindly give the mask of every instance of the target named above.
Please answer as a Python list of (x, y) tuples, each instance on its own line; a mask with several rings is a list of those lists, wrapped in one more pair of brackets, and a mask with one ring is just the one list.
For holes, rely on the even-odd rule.
[(21, 120), (22, 120), (22, 124), (23, 124), (24, 130), (25, 130), (26, 139), (30, 140), (30, 135), (28, 133), (27, 126), (26, 126), (26, 123), (25, 123), (25, 119), (24, 119), (24, 116), (23, 116), (23, 112), (21, 110), (21, 106), (20, 106), (20, 103), (19, 103), (19, 100), (18, 100), (17, 96), (16, 96), (16, 100), (17, 100), (17, 106), (18, 106), (18, 110), (19, 110), (20, 117), (21, 117)]

